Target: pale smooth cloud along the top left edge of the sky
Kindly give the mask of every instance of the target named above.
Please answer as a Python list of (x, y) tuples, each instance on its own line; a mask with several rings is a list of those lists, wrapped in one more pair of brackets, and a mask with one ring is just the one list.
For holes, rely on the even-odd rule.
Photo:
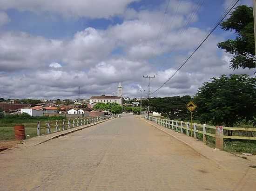
[(136, 0), (0, 0), (1, 9), (35, 13), (52, 12), (68, 17), (110, 18), (124, 13)]

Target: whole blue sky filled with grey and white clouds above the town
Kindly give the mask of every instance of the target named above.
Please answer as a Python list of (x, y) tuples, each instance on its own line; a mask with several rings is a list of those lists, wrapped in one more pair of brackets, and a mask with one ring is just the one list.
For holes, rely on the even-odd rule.
[[(0, 97), (125, 97), (154, 91), (200, 43), (232, 0), (0, 0)], [(251, 0), (240, 0), (239, 5)], [(218, 28), (153, 96), (193, 96), (210, 77), (230, 70), (216, 44), (233, 38)]]

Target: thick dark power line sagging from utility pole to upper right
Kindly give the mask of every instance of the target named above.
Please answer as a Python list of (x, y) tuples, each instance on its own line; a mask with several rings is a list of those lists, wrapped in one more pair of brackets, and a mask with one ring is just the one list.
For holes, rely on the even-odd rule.
[(195, 48), (195, 50), (190, 54), (190, 56), (185, 60), (185, 62), (175, 71), (175, 73), (170, 76), (168, 78), (168, 80), (163, 83), (158, 89), (156, 89), (152, 94), (155, 94), (155, 92), (157, 92), (159, 89), (161, 89), (166, 83), (168, 83), (168, 81), (175, 76), (175, 74), (181, 70), (181, 68), (189, 61), (189, 59), (195, 54), (195, 52), (202, 46), (202, 44), (207, 40), (207, 38), (209, 38), (209, 36), (215, 31), (215, 29), (218, 27), (218, 25), (220, 25), (220, 23), (223, 21), (223, 19), (225, 19), (225, 17), (229, 14), (229, 12), (236, 6), (236, 4), (238, 3), (239, 0), (233, 0), (231, 4), (233, 4), (233, 2), (235, 2), (235, 4), (233, 6), (229, 6), (226, 11), (224, 12), (224, 14), (222, 14), (222, 17), (218, 20), (217, 24), (210, 30), (210, 32), (208, 33), (208, 35), (202, 40), (202, 42)]

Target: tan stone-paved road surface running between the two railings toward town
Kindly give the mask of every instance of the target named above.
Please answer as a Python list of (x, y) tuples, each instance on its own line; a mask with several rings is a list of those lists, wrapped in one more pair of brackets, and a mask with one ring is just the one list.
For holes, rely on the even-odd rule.
[(52, 135), (25, 141), (0, 153), (0, 191), (255, 189), (251, 161), (152, 124), (126, 114), (46, 142)]

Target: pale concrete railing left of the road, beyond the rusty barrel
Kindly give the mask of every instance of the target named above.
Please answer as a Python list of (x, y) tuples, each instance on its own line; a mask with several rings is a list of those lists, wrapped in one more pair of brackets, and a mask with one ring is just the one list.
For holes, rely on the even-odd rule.
[(71, 129), (74, 127), (80, 127), (97, 121), (103, 121), (110, 118), (113, 118), (114, 115), (102, 115), (94, 117), (85, 117), (85, 118), (74, 118), (67, 120), (56, 120), (56, 121), (46, 121), (46, 122), (37, 122), (37, 135), (51, 134), (66, 129)]

